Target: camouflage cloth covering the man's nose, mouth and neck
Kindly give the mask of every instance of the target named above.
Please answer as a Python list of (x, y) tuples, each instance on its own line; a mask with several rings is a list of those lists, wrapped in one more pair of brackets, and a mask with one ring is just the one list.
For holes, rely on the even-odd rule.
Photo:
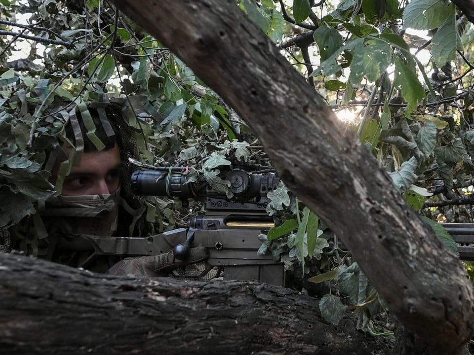
[(112, 236), (117, 231), (119, 191), (104, 195), (57, 196), (40, 215), (59, 249), (90, 250), (88, 235)]

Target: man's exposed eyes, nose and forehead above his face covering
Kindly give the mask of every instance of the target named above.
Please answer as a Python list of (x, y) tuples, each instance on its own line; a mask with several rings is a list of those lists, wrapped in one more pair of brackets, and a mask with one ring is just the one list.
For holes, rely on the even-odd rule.
[(79, 166), (64, 178), (61, 195), (104, 195), (120, 186), (120, 152), (112, 149), (82, 153)]

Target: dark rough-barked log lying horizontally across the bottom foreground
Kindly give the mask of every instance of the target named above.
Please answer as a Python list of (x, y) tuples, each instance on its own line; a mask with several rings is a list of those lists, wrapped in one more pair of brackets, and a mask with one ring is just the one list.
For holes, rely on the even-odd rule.
[(390, 354), (321, 319), (318, 300), (257, 282), (137, 280), (0, 254), (1, 354)]

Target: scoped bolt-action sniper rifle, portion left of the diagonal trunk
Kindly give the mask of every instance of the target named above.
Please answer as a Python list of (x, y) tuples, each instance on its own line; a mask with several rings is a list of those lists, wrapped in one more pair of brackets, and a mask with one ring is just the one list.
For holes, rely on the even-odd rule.
[(205, 197), (205, 213), (192, 217), (187, 228), (178, 228), (149, 237), (93, 237), (97, 254), (143, 256), (171, 250), (175, 258), (186, 260), (190, 247), (209, 250), (206, 271), (222, 270), (224, 279), (259, 280), (284, 285), (283, 264), (272, 255), (259, 255), (262, 242), (258, 235), (274, 226), (266, 212), (267, 192), (279, 181), (276, 173), (249, 174), (232, 169), (225, 177), (231, 182), (235, 198), (228, 199), (208, 184), (185, 183), (179, 172), (137, 170), (132, 174), (132, 190), (136, 195), (174, 196), (182, 200)]

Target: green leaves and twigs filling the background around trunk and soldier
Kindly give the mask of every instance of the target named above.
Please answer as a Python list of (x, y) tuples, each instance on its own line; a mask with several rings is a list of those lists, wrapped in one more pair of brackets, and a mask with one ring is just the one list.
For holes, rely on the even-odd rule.
[[(108, 1), (0, 3), (0, 197), (6, 201), (0, 227), (34, 214), (35, 201), (60, 191), (48, 182), (47, 156), (64, 141), (71, 107), (98, 101), (102, 92), (133, 107), (126, 117), (142, 162), (188, 167), (188, 182), (205, 180), (230, 198), (226, 167), (271, 168), (237, 114)], [(473, 221), (473, 31), (453, 3), (240, 0), (238, 6), (328, 105), (355, 113), (347, 129), (420, 215)], [(16, 59), (22, 46), (29, 53)], [(323, 316), (337, 323), (353, 310), (359, 327), (368, 329), (383, 301), (337, 236), (282, 183), (268, 197), (276, 227), (259, 236), (259, 252), (272, 252), (289, 269), (299, 262), (317, 270), (311, 280), (331, 284), (320, 302)], [(147, 197), (145, 203), (156, 232), (186, 224), (189, 211), (179, 201)], [(437, 235), (455, 249), (442, 230)]]

